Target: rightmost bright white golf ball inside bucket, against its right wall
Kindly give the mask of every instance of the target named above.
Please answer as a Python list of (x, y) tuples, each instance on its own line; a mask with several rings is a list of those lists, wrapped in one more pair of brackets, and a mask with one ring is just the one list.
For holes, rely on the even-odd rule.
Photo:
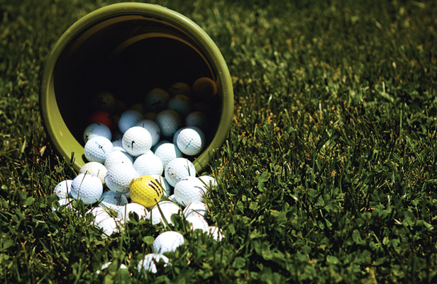
[(205, 135), (199, 127), (184, 127), (177, 135), (177, 147), (188, 156), (199, 154), (204, 144)]

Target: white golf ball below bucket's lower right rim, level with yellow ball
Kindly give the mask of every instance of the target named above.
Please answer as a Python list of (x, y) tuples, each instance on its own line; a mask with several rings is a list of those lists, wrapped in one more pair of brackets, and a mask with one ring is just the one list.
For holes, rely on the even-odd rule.
[(201, 202), (204, 194), (204, 184), (195, 176), (181, 178), (175, 185), (175, 198), (185, 206)]

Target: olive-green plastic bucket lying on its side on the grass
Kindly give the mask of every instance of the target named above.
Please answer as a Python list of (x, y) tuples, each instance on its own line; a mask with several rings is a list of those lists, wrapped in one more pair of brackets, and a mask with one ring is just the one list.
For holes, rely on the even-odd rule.
[[(122, 3), (99, 8), (68, 28), (45, 62), (40, 110), (55, 150), (79, 171), (83, 131), (92, 111), (89, 98), (111, 91), (128, 103), (142, 102), (148, 89), (206, 76), (216, 83), (208, 101), (206, 146), (192, 157), (197, 171), (208, 166), (226, 140), (233, 116), (233, 89), (226, 62), (199, 25), (168, 8)], [(190, 85), (191, 86), (191, 85)]]

